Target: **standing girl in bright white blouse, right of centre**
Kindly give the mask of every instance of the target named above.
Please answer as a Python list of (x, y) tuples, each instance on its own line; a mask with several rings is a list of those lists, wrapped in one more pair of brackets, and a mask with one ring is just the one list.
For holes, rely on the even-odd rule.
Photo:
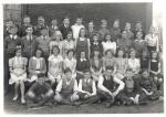
[(112, 50), (115, 54), (116, 52), (116, 42), (113, 42), (110, 34), (105, 34), (105, 41), (102, 42), (103, 45), (103, 53), (105, 53), (106, 50)]

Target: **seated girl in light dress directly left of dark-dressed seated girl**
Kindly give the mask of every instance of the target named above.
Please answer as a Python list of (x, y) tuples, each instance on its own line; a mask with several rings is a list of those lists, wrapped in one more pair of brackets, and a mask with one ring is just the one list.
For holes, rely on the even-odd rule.
[(68, 50), (66, 57), (63, 61), (63, 68), (69, 67), (72, 71), (72, 77), (76, 77), (76, 60), (74, 59), (74, 50)]

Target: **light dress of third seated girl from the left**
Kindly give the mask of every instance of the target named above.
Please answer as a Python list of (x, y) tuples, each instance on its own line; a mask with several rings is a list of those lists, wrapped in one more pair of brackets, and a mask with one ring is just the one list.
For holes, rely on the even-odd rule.
[(61, 79), (62, 75), (61, 63), (63, 62), (63, 57), (61, 55), (58, 56), (50, 55), (48, 61), (50, 62), (50, 68), (48, 72), (49, 79), (50, 81)]

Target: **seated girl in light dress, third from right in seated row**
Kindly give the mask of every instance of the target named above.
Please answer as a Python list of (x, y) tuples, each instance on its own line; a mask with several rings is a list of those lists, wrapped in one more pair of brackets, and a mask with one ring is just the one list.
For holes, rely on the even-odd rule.
[(117, 51), (117, 59), (116, 59), (116, 77), (123, 79), (127, 68), (127, 60), (124, 57), (124, 51)]

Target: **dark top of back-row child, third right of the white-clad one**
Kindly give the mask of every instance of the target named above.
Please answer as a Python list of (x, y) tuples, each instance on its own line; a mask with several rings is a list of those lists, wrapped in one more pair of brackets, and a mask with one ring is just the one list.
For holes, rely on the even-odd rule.
[(114, 29), (114, 28), (112, 28), (112, 29), (110, 30), (110, 33), (111, 33), (112, 39), (113, 39), (114, 42), (116, 42), (117, 39), (121, 38), (121, 29)]

